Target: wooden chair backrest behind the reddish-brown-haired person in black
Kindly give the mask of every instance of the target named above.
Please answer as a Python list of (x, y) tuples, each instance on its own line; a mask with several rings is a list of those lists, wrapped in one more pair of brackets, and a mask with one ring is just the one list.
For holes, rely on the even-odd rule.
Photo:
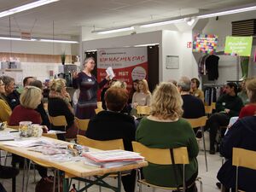
[(77, 142), (90, 148), (101, 150), (125, 149), (123, 139), (114, 139), (108, 141), (99, 141), (88, 137), (77, 135)]

